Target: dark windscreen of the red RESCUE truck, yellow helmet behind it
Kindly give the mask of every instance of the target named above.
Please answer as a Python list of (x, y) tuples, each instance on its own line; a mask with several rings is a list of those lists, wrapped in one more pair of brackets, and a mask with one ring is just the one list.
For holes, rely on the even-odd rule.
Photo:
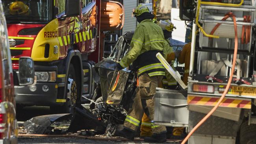
[(9, 22), (39, 22), (52, 20), (52, 0), (2, 0)]

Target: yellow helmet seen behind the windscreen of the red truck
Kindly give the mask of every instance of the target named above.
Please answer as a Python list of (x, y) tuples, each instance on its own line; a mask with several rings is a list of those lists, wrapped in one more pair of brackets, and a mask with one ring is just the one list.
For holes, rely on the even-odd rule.
[(28, 6), (23, 2), (13, 2), (9, 6), (11, 15), (27, 15), (28, 14)]

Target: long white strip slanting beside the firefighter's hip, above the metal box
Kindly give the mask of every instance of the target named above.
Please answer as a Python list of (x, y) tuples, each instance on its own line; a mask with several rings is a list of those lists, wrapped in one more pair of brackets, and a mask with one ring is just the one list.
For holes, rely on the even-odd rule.
[(180, 86), (182, 87), (182, 89), (187, 89), (187, 85), (185, 85), (185, 83), (180, 79), (180, 74), (176, 73), (173, 68), (169, 65), (169, 63), (165, 60), (165, 58), (163, 57), (163, 55), (161, 55), (160, 53), (156, 54), (156, 57), (158, 58), (158, 60), (162, 63), (162, 65), (165, 67), (165, 69), (173, 76), (173, 78), (180, 84)]

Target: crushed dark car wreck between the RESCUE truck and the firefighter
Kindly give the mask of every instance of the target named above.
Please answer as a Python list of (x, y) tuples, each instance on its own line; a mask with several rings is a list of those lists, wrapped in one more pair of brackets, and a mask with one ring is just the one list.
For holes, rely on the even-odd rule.
[[(98, 74), (98, 78), (95, 78), (97, 87), (93, 98), (90, 100), (89, 110), (76, 108), (69, 131), (76, 131), (78, 127), (80, 129), (92, 129), (94, 126), (96, 131), (105, 129), (104, 134), (112, 136), (116, 129), (122, 128), (135, 97), (137, 76), (132, 65), (120, 71), (116, 70), (116, 66), (131, 49), (130, 42), (133, 34), (133, 31), (124, 33), (109, 57), (95, 65), (94, 69)], [(175, 51), (182, 50), (186, 43), (171, 39), (170, 44)], [(180, 74), (184, 73), (184, 65), (178, 64), (177, 61), (174, 65)], [(158, 92), (160, 91), (158, 90)], [(88, 124), (90, 125), (88, 126)]]

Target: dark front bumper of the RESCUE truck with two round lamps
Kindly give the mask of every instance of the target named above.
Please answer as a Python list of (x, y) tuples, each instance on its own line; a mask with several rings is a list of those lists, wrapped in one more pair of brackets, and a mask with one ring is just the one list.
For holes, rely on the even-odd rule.
[[(43, 85), (48, 85), (47, 92), (42, 90)], [(37, 83), (37, 89), (32, 92), (29, 86), (15, 86), (15, 100), (18, 104), (51, 106), (56, 103), (58, 95), (58, 85), (56, 83)]]

